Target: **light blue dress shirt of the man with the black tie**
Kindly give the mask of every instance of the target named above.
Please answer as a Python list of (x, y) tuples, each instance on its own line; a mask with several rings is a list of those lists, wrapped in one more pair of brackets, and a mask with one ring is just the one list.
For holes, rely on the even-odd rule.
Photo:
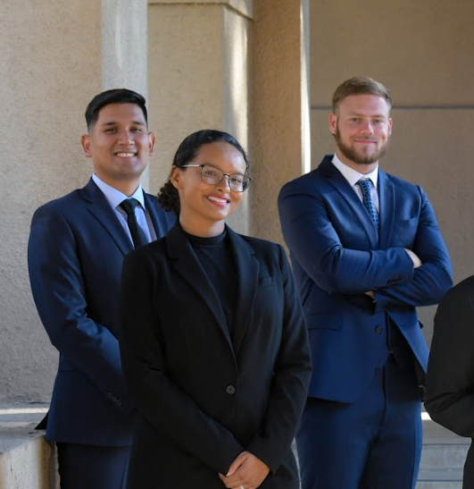
[(156, 232), (154, 232), (154, 225), (152, 223), (150, 213), (146, 210), (145, 207), (145, 197), (143, 195), (143, 189), (141, 183), (138, 185), (138, 188), (137, 190), (135, 190), (133, 195), (127, 197), (125, 194), (121, 193), (120, 190), (114, 189), (108, 183), (102, 181), (96, 175), (96, 173), (93, 173), (92, 180), (94, 181), (94, 183), (96, 183), (96, 186), (104, 194), (105, 198), (107, 199), (113, 211), (115, 212), (115, 215), (117, 215), (121, 225), (123, 226), (123, 229), (125, 230), (125, 232), (127, 232), (129, 239), (132, 243), (133, 240), (131, 238), (129, 224), (127, 223), (127, 213), (121, 207), (119, 207), (126, 198), (137, 199), (139, 203), (139, 206), (135, 207), (135, 216), (137, 217), (137, 223), (143, 229), (143, 232), (145, 232), (146, 239), (148, 240), (148, 242), (156, 240)]

